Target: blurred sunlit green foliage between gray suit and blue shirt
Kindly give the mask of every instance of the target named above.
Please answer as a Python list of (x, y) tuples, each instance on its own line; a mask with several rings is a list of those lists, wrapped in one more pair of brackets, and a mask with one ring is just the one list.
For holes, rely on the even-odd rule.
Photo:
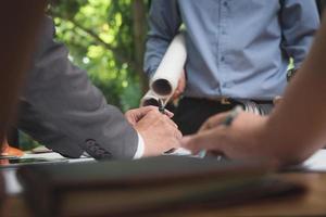
[[(49, 7), (57, 40), (71, 61), (87, 71), (110, 104), (122, 111), (139, 105), (147, 90), (142, 60), (150, 0), (55, 0)], [(37, 146), (21, 135), (24, 150)]]

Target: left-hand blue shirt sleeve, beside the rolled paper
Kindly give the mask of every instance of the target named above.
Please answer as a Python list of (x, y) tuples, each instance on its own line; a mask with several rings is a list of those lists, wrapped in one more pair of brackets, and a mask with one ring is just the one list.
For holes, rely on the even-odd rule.
[(163, 55), (177, 35), (181, 20), (176, 0), (153, 0), (149, 12), (148, 40), (143, 71), (151, 76), (159, 67)]

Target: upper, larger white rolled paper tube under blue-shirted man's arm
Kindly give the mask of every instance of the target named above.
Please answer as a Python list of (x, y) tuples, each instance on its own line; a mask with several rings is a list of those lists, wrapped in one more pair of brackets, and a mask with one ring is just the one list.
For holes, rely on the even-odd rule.
[(178, 34), (170, 43), (155, 74), (150, 80), (150, 89), (166, 100), (177, 88), (187, 59), (185, 36)]

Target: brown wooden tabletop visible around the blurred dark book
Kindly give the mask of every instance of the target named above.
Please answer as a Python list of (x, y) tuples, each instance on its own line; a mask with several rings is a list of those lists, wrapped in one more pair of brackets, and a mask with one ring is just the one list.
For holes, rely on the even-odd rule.
[[(303, 183), (305, 193), (286, 197), (265, 199), (226, 208), (181, 210), (155, 214), (158, 217), (216, 217), (216, 216), (326, 216), (326, 174), (285, 173), (281, 179)], [(27, 217), (27, 208), (21, 196), (10, 196), (3, 216)], [(153, 215), (149, 215), (153, 216)]]

